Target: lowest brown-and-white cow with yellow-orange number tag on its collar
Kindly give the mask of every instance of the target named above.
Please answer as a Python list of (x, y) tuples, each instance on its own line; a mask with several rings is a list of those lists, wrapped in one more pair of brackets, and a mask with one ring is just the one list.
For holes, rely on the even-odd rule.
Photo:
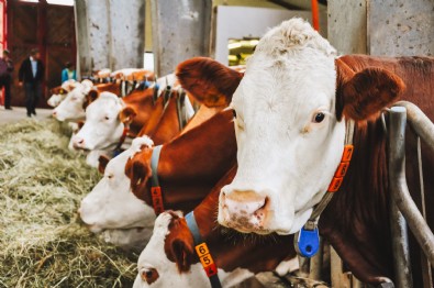
[[(288, 268), (281, 270), (282, 265), (279, 264), (288, 259), (292, 259), (290, 270), (298, 268), (296, 251), (289, 245), (293, 241), (292, 235), (246, 239), (218, 225), (215, 211), (220, 189), (232, 180), (235, 171), (236, 166), (193, 210), (198, 233), (207, 243), (222, 287), (233, 287), (260, 272), (277, 269), (286, 274)], [(138, 258), (138, 275), (133, 287), (211, 287), (196, 253), (198, 244), (181, 211), (163, 212), (156, 219), (154, 233)]]

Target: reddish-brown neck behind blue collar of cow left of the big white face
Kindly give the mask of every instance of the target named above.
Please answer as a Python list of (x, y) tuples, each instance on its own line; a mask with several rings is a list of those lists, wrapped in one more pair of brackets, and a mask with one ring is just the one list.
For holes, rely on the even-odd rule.
[[(191, 211), (236, 158), (233, 114), (218, 113), (209, 121), (165, 144), (157, 166), (164, 208)], [(151, 181), (141, 191), (152, 206)]]

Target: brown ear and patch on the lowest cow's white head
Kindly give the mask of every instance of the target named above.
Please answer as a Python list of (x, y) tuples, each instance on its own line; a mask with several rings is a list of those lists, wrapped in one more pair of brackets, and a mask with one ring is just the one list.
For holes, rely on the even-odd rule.
[(194, 241), (187, 222), (175, 212), (168, 211), (171, 220), (168, 226), (169, 234), (165, 239), (165, 253), (169, 261), (175, 262), (179, 273), (190, 270), (194, 261)]

